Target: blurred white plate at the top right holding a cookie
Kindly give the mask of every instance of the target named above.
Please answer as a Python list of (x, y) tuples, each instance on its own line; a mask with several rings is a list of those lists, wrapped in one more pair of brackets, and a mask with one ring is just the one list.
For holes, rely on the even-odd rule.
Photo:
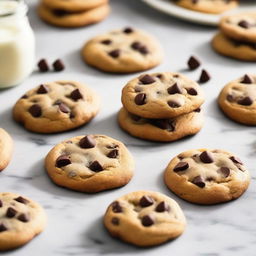
[[(223, 14), (207, 14), (201, 12), (191, 11), (182, 7), (179, 7), (172, 3), (170, 0), (142, 0), (147, 3), (154, 9), (157, 9), (161, 12), (167, 13), (171, 16), (188, 20), (194, 23), (200, 23), (204, 25), (217, 26), (220, 20), (221, 15)], [(238, 8), (235, 8), (227, 13), (236, 13), (242, 11), (256, 11), (256, 3), (254, 1), (249, 1), (247, 3), (241, 3)]]

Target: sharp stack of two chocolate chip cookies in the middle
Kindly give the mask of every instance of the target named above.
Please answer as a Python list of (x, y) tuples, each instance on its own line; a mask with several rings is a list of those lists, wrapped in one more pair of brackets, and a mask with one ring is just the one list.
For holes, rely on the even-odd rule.
[(203, 126), (200, 86), (179, 73), (141, 75), (122, 91), (119, 125), (131, 135), (151, 141), (175, 141)]

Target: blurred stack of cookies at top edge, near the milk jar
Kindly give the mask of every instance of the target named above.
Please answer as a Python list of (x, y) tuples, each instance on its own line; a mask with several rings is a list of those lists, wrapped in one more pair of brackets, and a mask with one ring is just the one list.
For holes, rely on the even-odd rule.
[(98, 23), (110, 12), (108, 0), (42, 0), (38, 14), (58, 27), (82, 27)]

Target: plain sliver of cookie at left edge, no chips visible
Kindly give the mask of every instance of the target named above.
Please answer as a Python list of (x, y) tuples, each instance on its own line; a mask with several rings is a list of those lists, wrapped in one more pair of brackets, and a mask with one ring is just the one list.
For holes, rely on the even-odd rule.
[(4, 129), (0, 128), (0, 171), (11, 161), (12, 152), (13, 140)]

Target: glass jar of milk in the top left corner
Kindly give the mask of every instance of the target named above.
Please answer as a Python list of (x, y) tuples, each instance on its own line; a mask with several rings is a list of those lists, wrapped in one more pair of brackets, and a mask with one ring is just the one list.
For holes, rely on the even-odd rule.
[(23, 1), (0, 0), (0, 89), (20, 84), (34, 68), (35, 37)]

